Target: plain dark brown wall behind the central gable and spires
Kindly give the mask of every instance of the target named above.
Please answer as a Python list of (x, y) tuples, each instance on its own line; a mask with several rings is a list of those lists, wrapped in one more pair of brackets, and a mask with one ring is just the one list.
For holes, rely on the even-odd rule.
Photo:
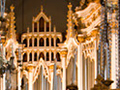
[(32, 26), (32, 18), (36, 17), (41, 5), (47, 16), (51, 16), (52, 27), (55, 25), (56, 30), (64, 33), (67, 29), (67, 5), (71, 2), (74, 7), (79, 5), (80, 0), (6, 0), (6, 12), (9, 12), (10, 5), (15, 6), (16, 30), (21, 34), (26, 32), (27, 27)]

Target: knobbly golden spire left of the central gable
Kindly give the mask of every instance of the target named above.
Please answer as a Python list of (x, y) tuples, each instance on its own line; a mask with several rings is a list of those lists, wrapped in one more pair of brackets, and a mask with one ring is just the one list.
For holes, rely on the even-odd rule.
[(8, 34), (7, 38), (8, 39), (16, 39), (16, 34), (15, 34), (15, 13), (14, 13), (15, 7), (13, 5), (10, 6), (11, 12), (9, 13), (9, 29), (8, 29)]

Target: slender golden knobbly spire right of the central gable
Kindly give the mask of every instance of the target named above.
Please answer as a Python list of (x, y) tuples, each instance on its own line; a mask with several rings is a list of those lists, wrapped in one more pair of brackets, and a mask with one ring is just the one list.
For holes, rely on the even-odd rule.
[(73, 14), (73, 11), (72, 11), (72, 5), (71, 3), (69, 3), (68, 5), (68, 19), (67, 19), (67, 39), (70, 38), (70, 37), (75, 37), (75, 30), (74, 30), (74, 24), (73, 24), (73, 19), (72, 19), (72, 14)]

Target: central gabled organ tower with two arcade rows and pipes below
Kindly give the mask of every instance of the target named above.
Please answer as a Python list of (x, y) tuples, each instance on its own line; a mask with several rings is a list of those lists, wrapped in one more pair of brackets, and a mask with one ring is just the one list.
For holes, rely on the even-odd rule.
[[(23, 48), (23, 70), (24, 76), (28, 79), (28, 90), (52, 90), (54, 86), (54, 72), (61, 84), (60, 69), (61, 59), (58, 43), (62, 42), (62, 34), (56, 32), (56, 27), (51, 28), (51, 17), (41, 12), (33, 17), (32, 32), (22, 34)], [(57, 70), (54, 69), (56, 64)], [(23, 78), (24, 79), (24, 78)], [(23, 80), (24, 81), (24, 80)], [(24, 81), (25, 82), (25, 81)], [(61, 88), (59, 84), (58, 88)], [(32, 89), (33, 88), (33, 89)], [(59, 90), (57, 89), (57, 90)], [(61, 89), (60, 89), (61, 90)]]

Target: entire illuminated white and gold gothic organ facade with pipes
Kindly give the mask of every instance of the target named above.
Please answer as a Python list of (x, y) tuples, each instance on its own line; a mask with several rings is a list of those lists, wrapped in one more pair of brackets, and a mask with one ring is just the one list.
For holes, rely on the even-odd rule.
[[(102, 52), (99, 46), (103, 46), (101, 22), (104, 21), (102, 16), (104, 14), (102, 10), (99, 0), (95, 2), (88, 0), (87, 3), (86, 0), (82, 0), (75, 12), (72, 11), (72, 5), (69, 3), (67, 34), (64, 42), (62, 42), (62, 34), (56, 32), (56, 27), (52, 29), (51, 17), (46, 16), (43, 7), (41, 12), (33, 17), (32, 30), (27, 28), (27, 32), (22, 34), (22, 44), (16, 41), (14, 29), (8, 29), (12, 34), (7, 34), (7, 38), (12, 38), (6, 39), (3, 46), (8, 47), (13, 43), (10, 47), (15, 49), (7, 51), (12, 51), (15, 61), (22, 60), (22, 67), (15, 62), (18, 70), (18, 90), (66, 90), (70, 85), (77, 86), (78, 90), (90, 90), (95, 86), (95, 79), (99, 74), (105, 80), (114, 81), (110, 88), (119, 87), (116, 11), (112, 14), (109, 12), (109, 17), (112, 17), (109, 23), (112, 22), (113, 26), (111, 25), (111, 37), (109, 37), (112, 41), (110, 43), (111, 60), (108, 63), (109, 60), (106, 59), (108, 60), (105, 61), (108, 63), (106, 64), (102, 61), (103, 53), (99, 54)], [(10, 23), (13, 25), (12, 22)], [(11, 55), (8, 53), (6, 57)], [(1, 82), (5, 83), (3, 79)], [(5, 85), (1, 87), (1, 90), (5, 90)]]

